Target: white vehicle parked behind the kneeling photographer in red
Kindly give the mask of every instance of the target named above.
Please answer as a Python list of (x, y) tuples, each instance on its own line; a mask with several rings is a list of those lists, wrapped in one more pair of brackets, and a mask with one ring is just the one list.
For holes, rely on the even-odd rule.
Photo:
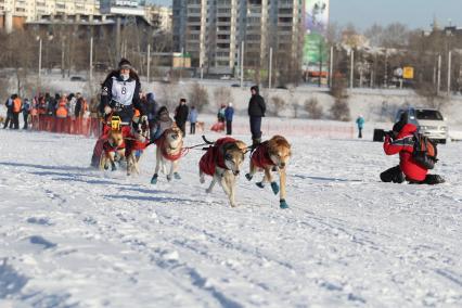
[(396, 113), (395, 123), (405, 114), (407, 123), (415, 125), (419, 132), (438, 142), (446, 143), (448, 139), (448, 124), (438, 110), (424, 107), (409, 107)]

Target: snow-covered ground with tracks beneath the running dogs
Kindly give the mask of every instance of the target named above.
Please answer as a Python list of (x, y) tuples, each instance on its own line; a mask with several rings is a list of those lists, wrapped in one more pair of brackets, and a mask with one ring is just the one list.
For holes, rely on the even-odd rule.
[(0, 307), (462, 306), (461, 143), (418, 187), (380, 182), (398, 157), (370, 139), (288, 139), (281, 210), (244, 177), (240, 207), (207, 196), (201, 151), (154, 187), (153, 147), (127, 178), (93, 139), (0, 130)]

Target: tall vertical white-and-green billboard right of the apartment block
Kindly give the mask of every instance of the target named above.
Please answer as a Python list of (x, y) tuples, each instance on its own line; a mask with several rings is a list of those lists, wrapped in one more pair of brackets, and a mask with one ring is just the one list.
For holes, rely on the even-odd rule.
[(304, 69), (326, 69), (328, 48), (325, 36), (329, 26), (329, 0), (305, 0)]

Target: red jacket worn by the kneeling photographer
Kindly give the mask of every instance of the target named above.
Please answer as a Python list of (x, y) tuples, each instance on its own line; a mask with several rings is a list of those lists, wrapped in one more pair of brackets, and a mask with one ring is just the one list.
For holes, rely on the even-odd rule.
[(418, 128), (412, 124), (405, 125), (394, 141), (389, 137), (385, 138), (384, 151), (386, 155), (399, 153), (399, 166), (406, 177), (410, 180), (423, 181), (428, 170), (415, 164), (412, 158), (414, 151), (412, 138), (416, 130)]

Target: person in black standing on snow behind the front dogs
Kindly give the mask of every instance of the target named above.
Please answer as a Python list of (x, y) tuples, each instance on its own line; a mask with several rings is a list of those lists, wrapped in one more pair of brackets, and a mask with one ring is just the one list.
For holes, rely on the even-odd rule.
[(248, 102), (248, 116), (251, 119), (251, 132), (252, 132), (252, 150), (261, 142), (261, 117), (265, 116), (267, 106), (264, 98), (258, 93), (258, 87), (254, 86), (251, 88), (252, 98)]

